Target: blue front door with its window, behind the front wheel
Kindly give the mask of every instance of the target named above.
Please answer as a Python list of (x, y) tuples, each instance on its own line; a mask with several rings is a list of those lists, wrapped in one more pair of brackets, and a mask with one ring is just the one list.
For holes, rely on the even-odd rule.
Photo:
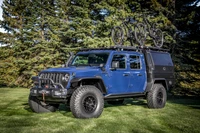
[(127, 68), (126, 54), (114, 54), (111, 60), (108, 93), (126, 93), (129, 86), (130, 71)]

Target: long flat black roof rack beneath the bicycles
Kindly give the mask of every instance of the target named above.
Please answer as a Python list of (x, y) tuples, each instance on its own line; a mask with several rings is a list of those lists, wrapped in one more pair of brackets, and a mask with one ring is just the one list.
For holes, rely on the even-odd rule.
[(153, 50), (153, 51), (163, 51), (168, 52), (169, 49), (162, 49), (158, 47), (151, 46), (111, 46), (111, 47), (102, 47), (102, 48), (81, 48), (80, 51), (91, 51), (91, 50), (116, 50), (116, 51), (143, 51), (143, 50)]

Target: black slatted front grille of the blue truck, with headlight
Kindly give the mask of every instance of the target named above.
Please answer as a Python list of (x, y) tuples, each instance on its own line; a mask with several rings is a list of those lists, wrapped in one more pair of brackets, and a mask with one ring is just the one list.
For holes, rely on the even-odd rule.
[[(53, 80), (54, 83), (56, 84), (61, 84), (63, 85), (63, 87), (66, 87), (67, 85), (67, 81), (63, 80), (65, 75), (67, 73), (41, 73), (40, 74), (40, 82), (41, 82), (41, 86), (44, 87), (45, 85), (49, 85), (49, 87), (54, 87), (55, 85), (53, 85), (53, 83), (48, 80), (48, 79), (51, 79)], [(60, 88), (58, 86), (58, 88)]]

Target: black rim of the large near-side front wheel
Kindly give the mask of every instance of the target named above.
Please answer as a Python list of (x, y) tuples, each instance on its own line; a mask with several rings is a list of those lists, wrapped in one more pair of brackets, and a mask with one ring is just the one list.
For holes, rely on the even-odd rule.
[(86, 96), (83, 99), (83, 108), (87, 113), (93, 113), (97, 107), (97, 100), (93, 96)]

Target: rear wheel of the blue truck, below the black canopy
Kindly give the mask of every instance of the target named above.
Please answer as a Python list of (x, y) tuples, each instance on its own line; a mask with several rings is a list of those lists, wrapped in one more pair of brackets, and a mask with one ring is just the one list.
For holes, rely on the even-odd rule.
[(162, 84), (154, 84), (154, 88), (147, 94), (149, 108), (163, 108), (166, 104), (167, 93)]

